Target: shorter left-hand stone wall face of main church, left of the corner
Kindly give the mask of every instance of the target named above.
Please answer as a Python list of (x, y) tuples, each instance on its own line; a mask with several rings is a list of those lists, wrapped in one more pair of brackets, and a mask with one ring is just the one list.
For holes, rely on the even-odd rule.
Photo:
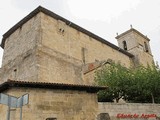
[(0, 83), (8, 80), (37, 81), (36, 51), (41, 38), (40, 15), (20, 26), (5, 41)]

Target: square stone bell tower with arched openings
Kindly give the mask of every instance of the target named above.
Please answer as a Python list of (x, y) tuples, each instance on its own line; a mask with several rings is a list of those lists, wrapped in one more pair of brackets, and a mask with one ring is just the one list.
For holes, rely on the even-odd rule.
[(152, 65), (153, 55), (150, 48), (150, 39), (144, 36), (138, 30), (131, 27), (130, 30), (117, 35), (118, 46), (133, 54), (133, 63), (135, 66), (138, 65)]

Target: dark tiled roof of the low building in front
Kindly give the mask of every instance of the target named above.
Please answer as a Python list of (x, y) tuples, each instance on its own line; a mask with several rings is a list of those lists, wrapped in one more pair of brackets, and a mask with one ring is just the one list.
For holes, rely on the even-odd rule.
[(0, 92), (15, 87), (78, 90), (78, 91), (87, 91), (89, 93), (96, 93), (99, 90), (107, 89), (107, 87), (90, 86), (90, 85), (8, 80), (0, 85)]

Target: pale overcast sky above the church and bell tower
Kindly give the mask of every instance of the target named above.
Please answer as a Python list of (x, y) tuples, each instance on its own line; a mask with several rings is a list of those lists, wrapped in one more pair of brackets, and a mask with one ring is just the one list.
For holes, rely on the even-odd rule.
[[(160, 64), (160, 0), (3, 0), (0, 3), (2, 35), (39, 5), (117, 45), (116, 33), (133, 28), (150, 38)], [(0, 49), (0, 63), (3, 50)]]

